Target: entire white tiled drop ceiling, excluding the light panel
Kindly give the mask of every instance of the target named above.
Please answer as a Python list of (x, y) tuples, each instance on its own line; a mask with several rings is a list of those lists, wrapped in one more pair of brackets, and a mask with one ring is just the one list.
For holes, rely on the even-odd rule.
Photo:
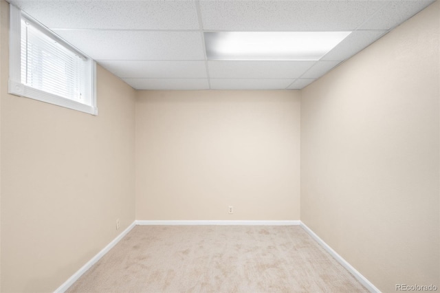
[[(302, 89), (434, 1), (9, 2), (135, 89)], [(318, 61), (208, 61), (212, 31), (353, 32)]]

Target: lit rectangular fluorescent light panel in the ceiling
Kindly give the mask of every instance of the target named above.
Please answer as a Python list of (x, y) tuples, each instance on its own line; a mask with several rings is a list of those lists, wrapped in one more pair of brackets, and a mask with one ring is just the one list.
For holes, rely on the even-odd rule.
[(204, 32), (208, 60), (316, 61), (351, 32)]

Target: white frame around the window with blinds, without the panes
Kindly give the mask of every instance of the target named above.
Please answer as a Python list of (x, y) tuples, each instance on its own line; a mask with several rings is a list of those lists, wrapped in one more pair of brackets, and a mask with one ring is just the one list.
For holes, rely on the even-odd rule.
[[(87, 74), (85, 76), (85, 83), (89, 86), (87, 91), (89, 92), (90, 99), (89, 104), (83, 104), (69, 98), (57, 96), (55, 94), (48, 93), (41, 89), (36, 89), (21, 83), (21, 19), (30, 21), (32, 25), (35, 25), (41, 32), (48, 37), (54, 39), (58, 43), (61, 43), (64, 47), (86, 59)], [(25, 12), (22, 12), (19, 8), (10, 5), (10, 43), (9, 43), (9, 80), (8, 80), (8, 93), (25, 98), (32, 98), (34, 100), (40, 100), (53, 105), (58, 105), (68, 109), (74, 109), (89, 113), (92, 115), (98, 115), (98, 107), (96, 106), (96, 62), (80, 52), (72, 45), (69, 45), (66, 41), (61, 39), (60, 36), (54, 34), (54, 32), (47, 29), (44, 25), (30, 17)]]

